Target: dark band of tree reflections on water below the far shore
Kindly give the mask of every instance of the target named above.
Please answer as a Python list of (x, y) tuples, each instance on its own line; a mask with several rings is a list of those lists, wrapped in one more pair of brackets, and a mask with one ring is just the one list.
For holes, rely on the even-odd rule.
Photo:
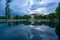
[(24, 24), (24, 25), (46, 25), (46, 26), (49, 26), (49, 27), (52, 27), (52, 28), (55, 28), (56, 27), (56, 22), (34, 22), (34, 24), (31, 24), (30, 21), (19, 21), (19, 22), (0, 22), (0, 24), (3, 24), (3, 23), (7, 23), (8, 26), (18, 26), (20, 24)]

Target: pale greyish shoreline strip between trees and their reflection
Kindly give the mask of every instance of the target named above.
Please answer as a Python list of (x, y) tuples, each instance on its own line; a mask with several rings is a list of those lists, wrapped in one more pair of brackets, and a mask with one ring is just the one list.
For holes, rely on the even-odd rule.
[(19, 22), (19, 21), (30, 21), (30, 22), (50, 22), (50, 21), (53, 21), (53, 22), (59, 22), (57, 19), (0, 19), (0, 22)]

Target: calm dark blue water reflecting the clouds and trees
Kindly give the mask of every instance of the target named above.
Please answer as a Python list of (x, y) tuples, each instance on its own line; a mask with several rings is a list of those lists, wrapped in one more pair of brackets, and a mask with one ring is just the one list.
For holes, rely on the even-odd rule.
[(0, 40), (58, 40), (55, 23), (0, 23)]

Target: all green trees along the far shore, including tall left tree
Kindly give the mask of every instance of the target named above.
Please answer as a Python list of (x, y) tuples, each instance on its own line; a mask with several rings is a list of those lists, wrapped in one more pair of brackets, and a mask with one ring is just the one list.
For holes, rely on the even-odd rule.
[[(0, 19), (10, 19), (11, 15), (10, 15), (10, 3), (12, 2), (12, 0), (6, 0), (6, 7), (5, 7), (5, 16), (0, 16)], [(24, 16), (19, 16), (19, 15), (15, 15), (13, 16), (14, 19), (30, 19), (31, 16), (30, 15), (24, 15)], [(34, 15), (35, 19), (58, 19), (60, 21), (60, 3), (58, 4), (58, 7), (55, 10), (55, 13), (50, 13), (48, 15)]]

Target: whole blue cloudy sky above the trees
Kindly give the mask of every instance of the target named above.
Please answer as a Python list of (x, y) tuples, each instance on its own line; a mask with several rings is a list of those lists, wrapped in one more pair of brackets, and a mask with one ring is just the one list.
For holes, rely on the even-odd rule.
[[(12, 0), (10, 9), (12, 15), (32, 13), (49, 14), (55, 12), (60, 0)], [(0, 15), (5, 15), (6, 0), (0, 0)]]

